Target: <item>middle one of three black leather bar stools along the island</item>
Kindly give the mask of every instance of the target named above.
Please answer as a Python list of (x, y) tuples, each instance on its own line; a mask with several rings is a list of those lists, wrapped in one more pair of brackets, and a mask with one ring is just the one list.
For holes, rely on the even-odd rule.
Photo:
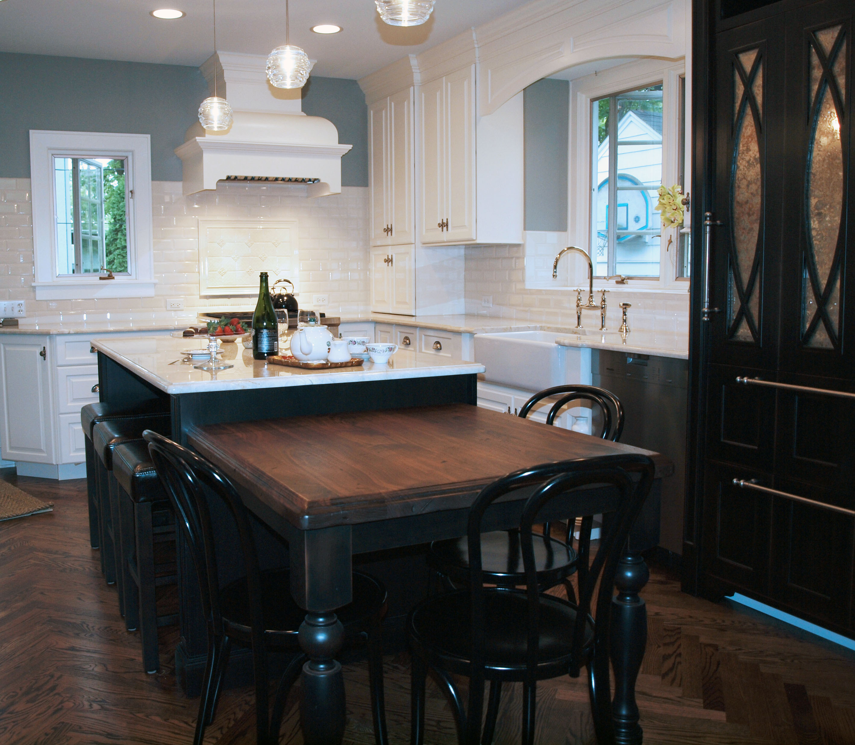
[(116, 542), (119, 533), (118, 513), (115, 510), (115, 477), (113, 476), (113, 450), (119, 445), (142, 438), (144, 430), (168, 432), (169, 414), (123, 414), (113, 419), (103, 419), (92, 427), (92, 448), (95, 450), (98, 505), (101, 517), (102, 568), (107, 584), (117, 584), (119, 611), (125, 614), (125, 593), (121, 578), (116, 573)]

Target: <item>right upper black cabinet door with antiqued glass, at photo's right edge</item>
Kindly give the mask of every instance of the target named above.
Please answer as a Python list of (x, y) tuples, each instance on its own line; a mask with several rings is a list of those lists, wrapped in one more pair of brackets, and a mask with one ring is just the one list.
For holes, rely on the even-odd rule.
[(781, 261), (781, 370), (847, 384), (855, 370), (852, 11), (852, 0), (827, 0), (788, 15)]

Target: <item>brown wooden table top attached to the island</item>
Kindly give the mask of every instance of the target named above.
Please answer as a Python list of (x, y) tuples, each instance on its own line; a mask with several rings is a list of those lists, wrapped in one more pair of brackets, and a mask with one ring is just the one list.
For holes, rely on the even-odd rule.
[(468, 404), (192, 427), (193, 448), (298, 529), (469, 507), (486, 485), (555, 460), (649, 450)]

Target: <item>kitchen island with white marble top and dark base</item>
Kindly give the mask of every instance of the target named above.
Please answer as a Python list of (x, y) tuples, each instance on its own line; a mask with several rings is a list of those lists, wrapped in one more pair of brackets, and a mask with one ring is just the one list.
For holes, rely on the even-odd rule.
[[(146, 410), (171, 415), (171, 437), (187, 444), (192, 427), (229, 422), (290, 418), (309, 414), (380, 411), (416, 406), (475, 404), (477, 374), (482, 365), (436, 355), (399, 350), (384, 365), (365, 361), (360, 367), (303, 370), (280, 367), (252, 358), (241, 343), (223, 343), (226, 370), (204, 372), (182, 361), (183, 349), (203, 347), (203, 337), (100, 338), (97, 350), (100, 400), (117, 411)], [(198, 364), (198, 362), (197, 362)], [(297, 437), (293, 447), (305, 447)], [(325, 457), (327, 454), (318, 454)], [(328, 454), (334, 457), (334, 454)], [(287, 566), (288, 547), (268, 531), (260, 543), (268, 566)], [(366, 568), (387, 586), (401, 584), (415, 554), (383, 558)], [(175, 650), (176, 675), (190, 695), (201, 683), (207, 654), (207, 630), (202, 617), (192, 559), (178, 539), (180, 636)], [(411, 582), (409, 583), (412, 584)], [(392, 619), (403, 624), (408, 597), (390, 603)], [(251, 681), (249, 654), (233, 652), (227, 684)]]

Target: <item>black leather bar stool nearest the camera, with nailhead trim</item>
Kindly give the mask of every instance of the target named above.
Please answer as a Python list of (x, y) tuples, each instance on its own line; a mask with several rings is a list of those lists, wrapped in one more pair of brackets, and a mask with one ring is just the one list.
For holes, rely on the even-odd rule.
[(125, 590), (125, 625), (128, 631), (139, 628), (145, 672), (157, 672), (157, 629), (178, 623), (178, 613), (157, 615), (156, 588), (175, 584), (177, 578), (174, 559), (156, 564), (155, 544), (174, 543), (175, 519), (144, 440), (116, 447), (113, 475), (118, 487), (116, 563)]

